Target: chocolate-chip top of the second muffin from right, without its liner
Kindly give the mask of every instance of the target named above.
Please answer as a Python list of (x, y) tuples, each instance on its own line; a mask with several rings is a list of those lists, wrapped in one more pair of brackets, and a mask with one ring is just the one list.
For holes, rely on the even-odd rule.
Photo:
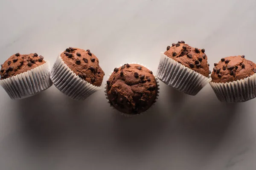
[(190, 68), (205, 77), (209, 77), (209, 64), (207, 63), (207, 55), (204, 54), (204, 49), (193, 48), (184, 41), (179, 41), (177, 44), (167, 46), (166, 56), (174, 59), (187, 68)]

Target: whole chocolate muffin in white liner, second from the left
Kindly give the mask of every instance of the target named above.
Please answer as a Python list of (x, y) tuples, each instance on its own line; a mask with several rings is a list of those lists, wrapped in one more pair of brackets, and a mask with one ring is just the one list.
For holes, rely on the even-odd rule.
[(101, 89), (104, 71), (98, 58), (79, 48), (67, 48), (55, 61), (50, 78), (59, 91), (75, 100), (84, 100)]

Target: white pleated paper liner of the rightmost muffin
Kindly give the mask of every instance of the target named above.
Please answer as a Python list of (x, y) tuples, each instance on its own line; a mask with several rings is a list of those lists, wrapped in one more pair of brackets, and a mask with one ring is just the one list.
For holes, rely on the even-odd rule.
[(256, 74), (233, 82), (210, 82), (210, 85), (221, 102), (246, 102), (256, 97)]

